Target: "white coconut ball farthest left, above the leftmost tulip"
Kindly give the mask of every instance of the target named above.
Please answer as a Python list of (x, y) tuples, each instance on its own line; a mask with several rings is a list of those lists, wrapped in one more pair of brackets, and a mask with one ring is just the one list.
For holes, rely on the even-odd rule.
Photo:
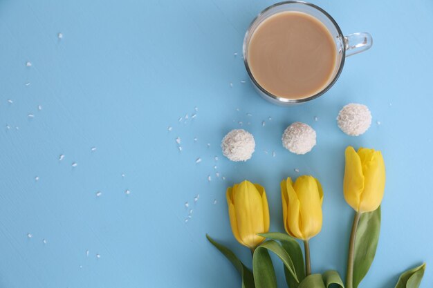
[(221, 142), (223, 155), (234, 162), (246, 161), (251, 158), (255, 149), (254, 137), (243, 129), (230, 131)]

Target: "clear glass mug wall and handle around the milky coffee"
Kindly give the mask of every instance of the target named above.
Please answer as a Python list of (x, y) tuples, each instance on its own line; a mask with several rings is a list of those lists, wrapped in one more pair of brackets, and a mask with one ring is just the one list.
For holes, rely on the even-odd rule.
[[(268, 90), (263, 88), (259, 84), (259, 82), (255, 79), (255, 77), (252, 75), (250, 66), (248, 64), (248, 46), (252, 39), (252, 35), (254, 35), (255, 30), (257, 29), (257, 27), (259, 27), (259, 25), (263, 21), (265, 21), (269, 17), (272, 17), (273, 15), (279, 12), (306, 13), (307, 15), (310, 15), (315, 19), (317, 19), (318, 21), (322, 22), (322, 24), (326, 26), (326, 28), (329, 30), (329, 32), (333, 37), (337, 55), (335, 57), (336, 63), (335, 63), (335, 68), (333, 70), (333, 73), (331, 75), (331, 81), (329, 82), (329, 84), (324, 86), (322, 90), (320, 90), (318, 93), (315, 93), (315, 95), (310, 95), (300, 99), (279, 97), (278, 95), (273, 95), (273, 93), (270, 93)], [(255, 86), (257, 92), (259, 93), (259, 95), (261, 95), (261, 97), (274, 104), (279, 104), (281, 106), (291, 106), (294, 104), (300, 104), (300, 103), (311, 101), (323, 95), (327, 90), (329, 90), (329, 88), (333, 86), (333, 84), (335, 84), (335, 81), (337, 81), (338, 77), (340, 76), (340, 73), (344, 66), (344, 58), (365, 51), (371, 48), (372, 44), (373, 44), (373, 39), (371, 38), (371, 35), (369, 35), (369, 33), (366, 32), (353, 33), (344, 36), (340, 30), (340, 27), (335, 22), (335, 20), (331, 17), (331, 15), (329, 15), (322, 8), (315, 6), (314, 4), (307, 3), (304, 1), (284, 1), (280, 3), (276, 3), (273, 6), (269, 6), (265, 10), (261, 11), (260, 14), (257, 17), (255, 17), (255, 19), (252, 20), (252, 23), (250, 24), (250, 27), (246, 32), (245, 38), (243, 39), (243, 63), (245, 64), (246, 70), (248, 72), (248, 75), (250, 76), (252, 84)]]

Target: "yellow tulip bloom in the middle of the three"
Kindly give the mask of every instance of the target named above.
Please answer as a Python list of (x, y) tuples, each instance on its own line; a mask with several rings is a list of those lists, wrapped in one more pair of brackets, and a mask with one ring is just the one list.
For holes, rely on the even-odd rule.
[(323, 191), (312, 176), (291, 177), (281, 182), (284, 228), (295, 238), (308, 240), (322, 229)]

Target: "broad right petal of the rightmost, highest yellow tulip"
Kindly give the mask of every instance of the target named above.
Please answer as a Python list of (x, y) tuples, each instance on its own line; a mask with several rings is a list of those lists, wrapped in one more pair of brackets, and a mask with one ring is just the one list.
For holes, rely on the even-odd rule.
[(365, 177), (364, 191), (360, 197), (360, 212), (378, 209), (385, 191), (385, 162), (380, 151), (360, 148), (358, 155), (362, 163), (362, 173)]

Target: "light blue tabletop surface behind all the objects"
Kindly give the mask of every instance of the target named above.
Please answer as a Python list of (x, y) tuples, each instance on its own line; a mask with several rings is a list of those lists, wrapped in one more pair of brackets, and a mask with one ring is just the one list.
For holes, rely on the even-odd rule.
[[(324, 187), (313, 271), (344, 276), (353, 214), (342, 195), (347, 145), (380, 149), (387, 164), (380, 242), (360, 287), (394, 287), (423, 261), (421, 286), (432, 286), (433, 2), (314, 1), (344, 33), (370, 32), (374, 46), (347, 59), (324, 97), (291, 108), (241, 83), (244, 32), (272, 3), (1, 1), (1, 287), (240, 287), (205, 240), (210, 233), (250, 261), (230, 231), (225, 189), (244, 179), (264, 185), (271, 230), (284, 231), (279, 182), (294, 169)], [(335, 123), (350, 102), (374, 117), (360, 137)], [(317, 131), (307, 155), (282, 147), (295, 121)], [(238, 122), (257, 143), (246, 163), (229, 162), (219, 147)], [(194, 210), (188, 222), (185, 202)]]

